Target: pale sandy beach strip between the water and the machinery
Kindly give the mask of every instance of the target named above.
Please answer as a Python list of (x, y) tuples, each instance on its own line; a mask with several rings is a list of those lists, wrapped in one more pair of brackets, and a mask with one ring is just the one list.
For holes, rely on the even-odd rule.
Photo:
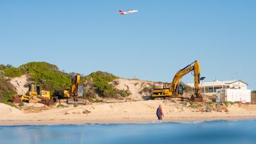
[[(0, 125), (117, 124), (157, 122), (156, 109), (163, 106), (163, 122), (200, 122), (205, 120), (245, 120), (256, 118), (256, 106), (227, 106), (228, 112), (211, 113), (190, 108), (179, 102), (147, 100), (120, 103), (93, 103), (86, 106), (46, 109), (45, 106), (19, 110), (0, 104)], [(37, 109), (37, 110), (36, 110)], [(43, 110), (38, 110), (43, 109)]]

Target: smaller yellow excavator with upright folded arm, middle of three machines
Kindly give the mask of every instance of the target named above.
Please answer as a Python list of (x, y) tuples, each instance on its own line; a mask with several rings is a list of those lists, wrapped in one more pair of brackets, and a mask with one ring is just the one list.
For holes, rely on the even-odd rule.
[(83, 103), (83, 86), (80, 84), (80, 74), (76, 74), (76, 76), (72, 76), (72, 84), (69, 89), (64, 91), (56, 90), (54, 93), (58, 97), (59, 100), (67, 99), (68, 103)]

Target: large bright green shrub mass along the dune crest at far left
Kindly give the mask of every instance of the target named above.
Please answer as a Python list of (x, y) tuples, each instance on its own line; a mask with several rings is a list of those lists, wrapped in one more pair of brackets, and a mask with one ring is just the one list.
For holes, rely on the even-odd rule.
[(56, 65), (46, 62), (30, 62), (18, 68), (12, 65), (0, 65), (0, 70), (6, 77), (20, 77), (28, 74), (30, 81), (40, 84), (41, 89), (49, 90), (51, 93), (57, 89), (69, 88), (71, 84), (69, 74), (61, 72)]

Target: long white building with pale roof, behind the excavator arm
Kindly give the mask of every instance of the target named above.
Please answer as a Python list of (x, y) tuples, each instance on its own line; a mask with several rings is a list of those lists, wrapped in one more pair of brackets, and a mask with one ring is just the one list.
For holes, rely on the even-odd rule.
[[(188, 86), (194, 88), (194, 83), (188, 83)], [(232, 80), (232, 81), (218, 81), (217, 79), (212, 82), (202, 82), (200, 83), (201, 92), (204, 94), (216, 94), (216, 90), (222, 88), (232, 88), (232, 89), (241, 89), (247, 90), (247, 83), (244, 83), (241, 80)]]

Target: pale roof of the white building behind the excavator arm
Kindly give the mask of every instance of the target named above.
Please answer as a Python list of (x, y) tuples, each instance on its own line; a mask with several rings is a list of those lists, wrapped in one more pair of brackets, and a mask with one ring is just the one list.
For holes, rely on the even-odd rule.
[[(231, 81), (211, 81), (211, 82), (201, 82), (200, 86), (228, 86), (228, 84), (232, 84), (232, 83), (236, 83), (237, 81), (241, 81), (241, 80), (231, 80)], [(244, 83), (243, 81), (241, 81), (242, 83)], [(246, 85), (248, 85), (247, 83), (244, 83)], [(188, 86), (194, 87), (194, 83), (187, 83)]]

